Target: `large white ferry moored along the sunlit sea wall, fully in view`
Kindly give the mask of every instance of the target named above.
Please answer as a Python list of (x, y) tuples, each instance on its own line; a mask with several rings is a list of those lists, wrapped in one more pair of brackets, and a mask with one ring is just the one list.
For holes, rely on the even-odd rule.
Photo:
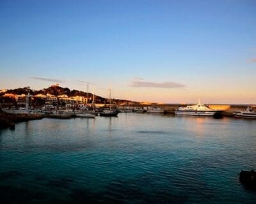
[(223, 110), (213, 110), (208, 108), (204, 104), (200, 103), (200, 100), (196, 105), (188, 105), (186, 107), (179, 107), (175, 110), (175, 115), (194, 115), (194, 116), (218, 116), (221, 117)]

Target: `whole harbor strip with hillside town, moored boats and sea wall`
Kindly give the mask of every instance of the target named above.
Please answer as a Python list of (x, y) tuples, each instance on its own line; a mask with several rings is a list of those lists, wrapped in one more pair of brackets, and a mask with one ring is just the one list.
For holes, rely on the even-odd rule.
[[(102, 98), (97, 96), (95, 92), (89, 92), (89, 85), (87, 85), (86, 92), (71, 91), (68, 88), (60, 87), (60, 84), (51, 85), (51, 87), (43, 90), (32, 91), (29, 87), (1, 90), (0, 118), (4, 121), (2, 122), (2, 128), (13, 127), (13, 122), (16, 122), (15, 117), (19, 118), (17, 120), (24, 121), (42, 119), (43, 117), (54, 119), (95, 118), (97, 116), (117, 117), (118, 113), (122, 112), (191, 115), (195, 117), (210, 116), (218, 119), (222, 117), (256, 118), (256, 105), (252, 104), (204, 104), (200, 100), (194, 104), (145, 103), (114, 99), (111, 96), (111, 89), (109, 89), (108, 98)], [(20, 92), (22, 94), (18, 94)], [(250, 108), (250, 111), (248, 108)]]

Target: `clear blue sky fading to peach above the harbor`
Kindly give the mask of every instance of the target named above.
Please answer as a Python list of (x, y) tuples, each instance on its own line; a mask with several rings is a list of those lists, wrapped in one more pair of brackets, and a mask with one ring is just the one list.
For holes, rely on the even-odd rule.
[(0, 1), (0, 89), (256, 104), (256, 1)]

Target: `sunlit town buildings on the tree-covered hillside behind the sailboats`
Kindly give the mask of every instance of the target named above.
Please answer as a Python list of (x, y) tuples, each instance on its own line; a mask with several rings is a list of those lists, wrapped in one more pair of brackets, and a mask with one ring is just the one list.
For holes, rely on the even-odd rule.
[[(70, 90), (60, 87), (59, 84), (51, 85), (47, 89), (35, 91), (30, 87), (12, 90), (0, 90), (0, 104), (3, 108), (29, 108), (52, 110), (54, 108), (83, 109), (88, 106), (104, 106), (109, 103), (108, 98), (93, 95), (90, 92)], [(131, 103), (122, 99), (112, 99), (115, 105)]]

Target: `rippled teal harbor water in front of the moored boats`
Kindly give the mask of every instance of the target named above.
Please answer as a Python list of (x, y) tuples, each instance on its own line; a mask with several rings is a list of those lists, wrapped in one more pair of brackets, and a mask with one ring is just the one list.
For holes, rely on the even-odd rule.
[(256, 120), (120, 113), (0, 132), (0, 203), (256, 203)]

